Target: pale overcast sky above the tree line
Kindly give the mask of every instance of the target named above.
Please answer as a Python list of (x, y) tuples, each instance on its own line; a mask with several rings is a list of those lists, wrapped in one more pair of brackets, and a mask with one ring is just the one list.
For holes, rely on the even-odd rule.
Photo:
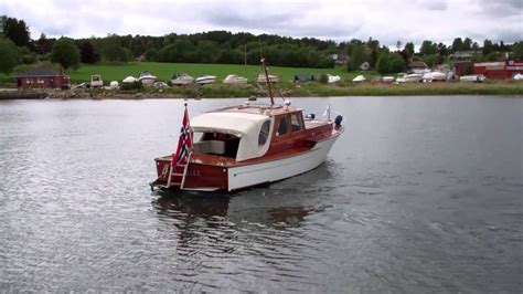
[(523, 40), (523, 0), (0, 0), (0, 14), (23, 19), (33, 39), (227, 30), (386, 45)]

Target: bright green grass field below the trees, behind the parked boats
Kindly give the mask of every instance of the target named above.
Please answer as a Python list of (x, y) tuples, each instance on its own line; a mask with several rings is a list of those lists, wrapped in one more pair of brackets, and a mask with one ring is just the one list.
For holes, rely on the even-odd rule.
[[(201, 64), (201, 63), (159, 63), (159, 62), (130, 62), (130, 63), (98, 63), (98, 64), (82, 64), (76, 70), (67, 71), (68, 76), (73, 83), (82, 83), (90, 81), (90, 75), (100, 74), (104, 83), (108, 84), (110, 81), (121, 81), (126, 76), (132, 75), (138, 77), (141, 71), (149, 71), (158, 76), (161, 81), (170, 80), (174, 73), (188, 73), (194, 77), (211, 74), (215, 75), (218, 81), (222, 81), (228, 74), (238, 74), (254, 81), (256, 76), (262, 73), (259, 65), (237, 65), (237, 64)], [(350, 80), (356, 76), (357, 72), (348, 73), (341, 67), (337, 69), (305, 69), (305, 67), (279, 67), (270, 66), (270, 74), (280, 75), (284, 81), (292, 80), (296, 74), (333, 74), (340, 75), (342, 80)], [(370, 77), (375, 75), (374, 72), (364, 73)], [(0, 81), (13, 81), (15, 74), (6, 76), (0, 74)]]

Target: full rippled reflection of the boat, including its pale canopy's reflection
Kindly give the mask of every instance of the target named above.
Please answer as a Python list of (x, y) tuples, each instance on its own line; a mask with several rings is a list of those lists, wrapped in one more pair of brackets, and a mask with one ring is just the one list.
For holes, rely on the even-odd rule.
[(181, 266), (192, 266), (194, 259), (221, 269), (234, 267), (227, 262), (242, 256), (288, 258), (308, 232), (308, 219), (330, 207), (324, 203), (329, 187), (335, 187), (335, 168), (328, 161), (302, 176), (234, 195), (157, 190), (152, 206), (167, 224), (162, 233), (175, 240)]

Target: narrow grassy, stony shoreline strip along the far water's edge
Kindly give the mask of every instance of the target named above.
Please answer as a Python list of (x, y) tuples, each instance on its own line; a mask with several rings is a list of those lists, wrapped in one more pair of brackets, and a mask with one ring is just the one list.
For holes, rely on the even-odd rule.
[[(278, 85), (277, 95), (282, 97), (335, 97), (335, 96), (449, 96), (449, 95), (523, 95), (522, 81), (489, 81), (485, 83), (430, 83), (430, 84), (340, 84), (319, 83)], [(224, 84), (191, 87), (140, 90), (8, 90), (0, 91), (1, 99), (147, 99), (147, 98), (262, 98), (267, 94), (259, 87)]]

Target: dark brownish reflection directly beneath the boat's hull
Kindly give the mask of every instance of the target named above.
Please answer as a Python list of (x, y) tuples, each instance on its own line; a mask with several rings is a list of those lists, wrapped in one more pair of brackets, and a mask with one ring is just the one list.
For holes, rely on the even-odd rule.
[(332, 164), (327, 162), (302, 176), (234, 195), (157, 190), (152, 204), (160, 216), (175, 219), (179, 228), (191, 223), (211, 228), (299, 227), (311, 212), (324, 208), (322, 196), (329, 192), (333, 179), (330, 169)]

